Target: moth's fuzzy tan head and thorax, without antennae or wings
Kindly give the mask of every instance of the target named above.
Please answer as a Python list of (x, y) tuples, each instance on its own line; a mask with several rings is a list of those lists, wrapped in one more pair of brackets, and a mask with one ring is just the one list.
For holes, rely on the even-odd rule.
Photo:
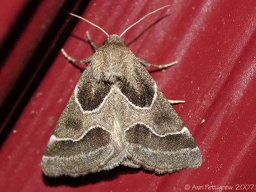
[(91, 67), (97, 81), (129, 81), (135, 56), (118, 35), (111, 35), (93, 55)]

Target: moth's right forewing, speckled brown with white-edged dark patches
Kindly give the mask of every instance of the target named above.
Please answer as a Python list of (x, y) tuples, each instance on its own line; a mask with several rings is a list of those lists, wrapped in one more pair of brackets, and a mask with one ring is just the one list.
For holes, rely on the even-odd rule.
[[(138, 69), (136, 78), (140, 88), (136, 88), (137, 92), (132, 85), (120, 88), (122, 96), (129, 100), (119, 99), (123, 106), (120, 114), (127, 142), (127, 157), (122, 164), (142, 166), (156, 173), (200, 166), (202, 156), (193, 136), (147, 70), (140, 64), (134, 65)], [(136, 99), (133, 95), (140, 97)]]

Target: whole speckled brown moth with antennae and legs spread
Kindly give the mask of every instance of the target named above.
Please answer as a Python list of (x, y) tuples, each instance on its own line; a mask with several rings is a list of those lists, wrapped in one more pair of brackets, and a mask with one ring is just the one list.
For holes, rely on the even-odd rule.
[[(95, 54), (68, 61), (89, 63), (45, 149), (42, 170), (49, 177), (79, 177), (110, 170), (119, 164), (156, 173), (196, 168), (202, 162), (191, 133), (164, 97), (145, 66), (158, 68), (134, 56), (122, 35), (108, 35), (102, 47), (88, 40)], [(179, 101), (177, 101), (179, 102)]]

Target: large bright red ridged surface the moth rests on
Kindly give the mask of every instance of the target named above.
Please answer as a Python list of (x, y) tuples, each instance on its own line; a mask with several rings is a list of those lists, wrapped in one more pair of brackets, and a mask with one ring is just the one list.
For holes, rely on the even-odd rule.
[[(152, 77), (167, 98), (186, 100), (175, 109), (202, 151), (202, 166), (163, 176), (120, 166), (79, 179), (43, 177), (45, 146), (81, 75), (59, 53), (19, 118), (4, 128), (12, 131), (1, 146), (1, 191), (185, 191), (187, 184), (202, 186), (200, 191), (207, 191), (205, 185), (236, 191), (236, 184), (255, 184), (256, 189), (255, 1), (95, 0), (81, 15), (120, 34), (166, 4), (170, 8), (143, 20), (124, 38), (136, 56), (150, 63), (179, 61)], [(97, 44), (106, 40), (99, 29), (79, 21), (64, 45), (70, 56), (93, 54), (79, 39), (86, 30)]]

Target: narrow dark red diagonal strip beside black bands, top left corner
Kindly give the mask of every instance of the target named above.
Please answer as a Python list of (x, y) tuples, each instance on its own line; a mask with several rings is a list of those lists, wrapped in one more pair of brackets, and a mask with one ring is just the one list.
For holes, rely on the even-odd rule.
[[(20, 36), (17, 38), (17, 42), (15, 42), (15, 46), (13, 46), (8, 57), (1, 63), (3, 67), (1, 68), (0, 81), (4, 83), (1, 85), (1, 90), (3, 90), (3, 92), (0, 96), (0, 106), (17, 82), (17, 79), (26, 67), (26, 64), (31, 59), (36, 47), (49, 29), (52, 20), (56, 17), (62, 4), (63, 1), (52, 1), (52, 3), (50, 3), (50, 1), (43, 1), (38, 7), (35, 7), (35, 13), (29, 18), (28, 25), (23, 29), (22, 33), (20, 33)], [(25, 9), (26, 4), (19, 5), (21, 6), (20, 9)], [(52, 9), (52, 7), (54, 8)], [(16, 13), (13, 14), (14, 16), (19, 15), (17, 12), (14, 13)], [(17, 19), (18, 18), (19, 17), (17, 17)], [(28, 18), (24, 18), (24, 20), (25, 19), (27, 20)], [(12, 20), (10, 20), (10, 23), (12, 23)], [(8, 29), (10, 23), (4, 22), (2, 28)], [(16, 33), (19, 32), (20, 31), (16, 31)]]

